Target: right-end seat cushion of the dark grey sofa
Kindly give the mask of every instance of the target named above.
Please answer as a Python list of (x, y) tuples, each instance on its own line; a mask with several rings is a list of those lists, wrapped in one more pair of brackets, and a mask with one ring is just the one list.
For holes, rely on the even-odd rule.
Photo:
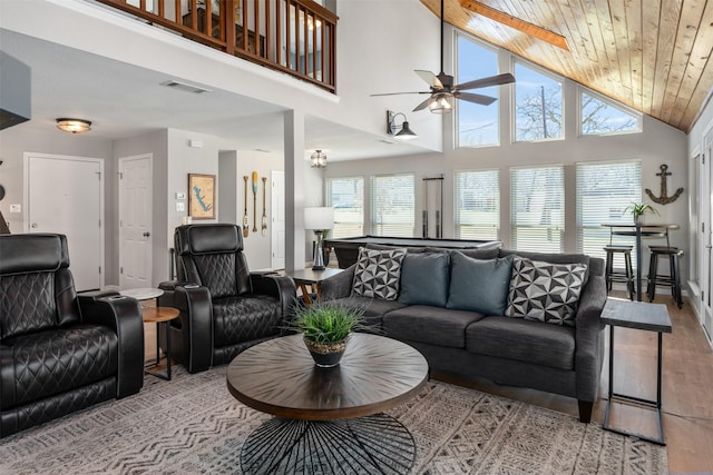
[(487, 317), (466, 329), (466, 349), (479, 355), (574, 369), (575, 329), (508, 317)]

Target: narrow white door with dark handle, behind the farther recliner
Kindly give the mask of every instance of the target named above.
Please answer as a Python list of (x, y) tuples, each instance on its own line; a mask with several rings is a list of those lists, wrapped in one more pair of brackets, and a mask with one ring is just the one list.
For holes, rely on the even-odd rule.
[(119, 159), (119, 286), (152, 287), (152, 156)]

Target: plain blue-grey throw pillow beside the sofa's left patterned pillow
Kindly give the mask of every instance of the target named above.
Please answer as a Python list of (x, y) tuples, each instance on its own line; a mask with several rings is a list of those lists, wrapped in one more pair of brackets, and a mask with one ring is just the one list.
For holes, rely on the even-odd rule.
[(448, 253), (407, 254), (401, 266), (402, 304), (445, 307), (448, 300)]

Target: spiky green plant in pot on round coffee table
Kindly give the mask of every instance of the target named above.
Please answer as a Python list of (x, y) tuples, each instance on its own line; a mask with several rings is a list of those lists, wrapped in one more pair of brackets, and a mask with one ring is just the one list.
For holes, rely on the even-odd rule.
[(329, 368), (339, 365), (352, 331), (362, 326), (363, 309), (333, 301), (297, 305), (289, 327), (302, 335), (314, 363)]

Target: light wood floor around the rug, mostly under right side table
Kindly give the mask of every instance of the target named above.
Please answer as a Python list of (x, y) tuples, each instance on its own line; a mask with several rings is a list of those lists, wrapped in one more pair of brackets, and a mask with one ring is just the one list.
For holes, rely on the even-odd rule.
[[(613, 293), (613, 296), (625, 297)], [(663, 424), (671, 473), (713, 473), (713, 350), (687, 304), (678, 309), (670, 297), (666, 304), (673, 333), (663, 338)], [(156, 326), (145, 325), (146, 359), (156, 357)], [(608, 329), (605, 331), (608, 336)], [(646, 399), (656, 396), (656, 334), (628, 328), (615, 330), (615, 390)], [(607, 342), (608, 345), (608, 342)], [(607, 346), (608, 354), (608, 346)], [(577, 403), (569, 397), (534, 389), (497, 386), (478, 380), (465, 383), (476, 389), (548, 407), (577, 416)], [(608, 366), (604, 362), (599, 400), (593, 420), (602, 424), (608, 389)], [(611, 424), (635, 433), (656, 436), (655, 414), (646, 408), (614, 405)]]

